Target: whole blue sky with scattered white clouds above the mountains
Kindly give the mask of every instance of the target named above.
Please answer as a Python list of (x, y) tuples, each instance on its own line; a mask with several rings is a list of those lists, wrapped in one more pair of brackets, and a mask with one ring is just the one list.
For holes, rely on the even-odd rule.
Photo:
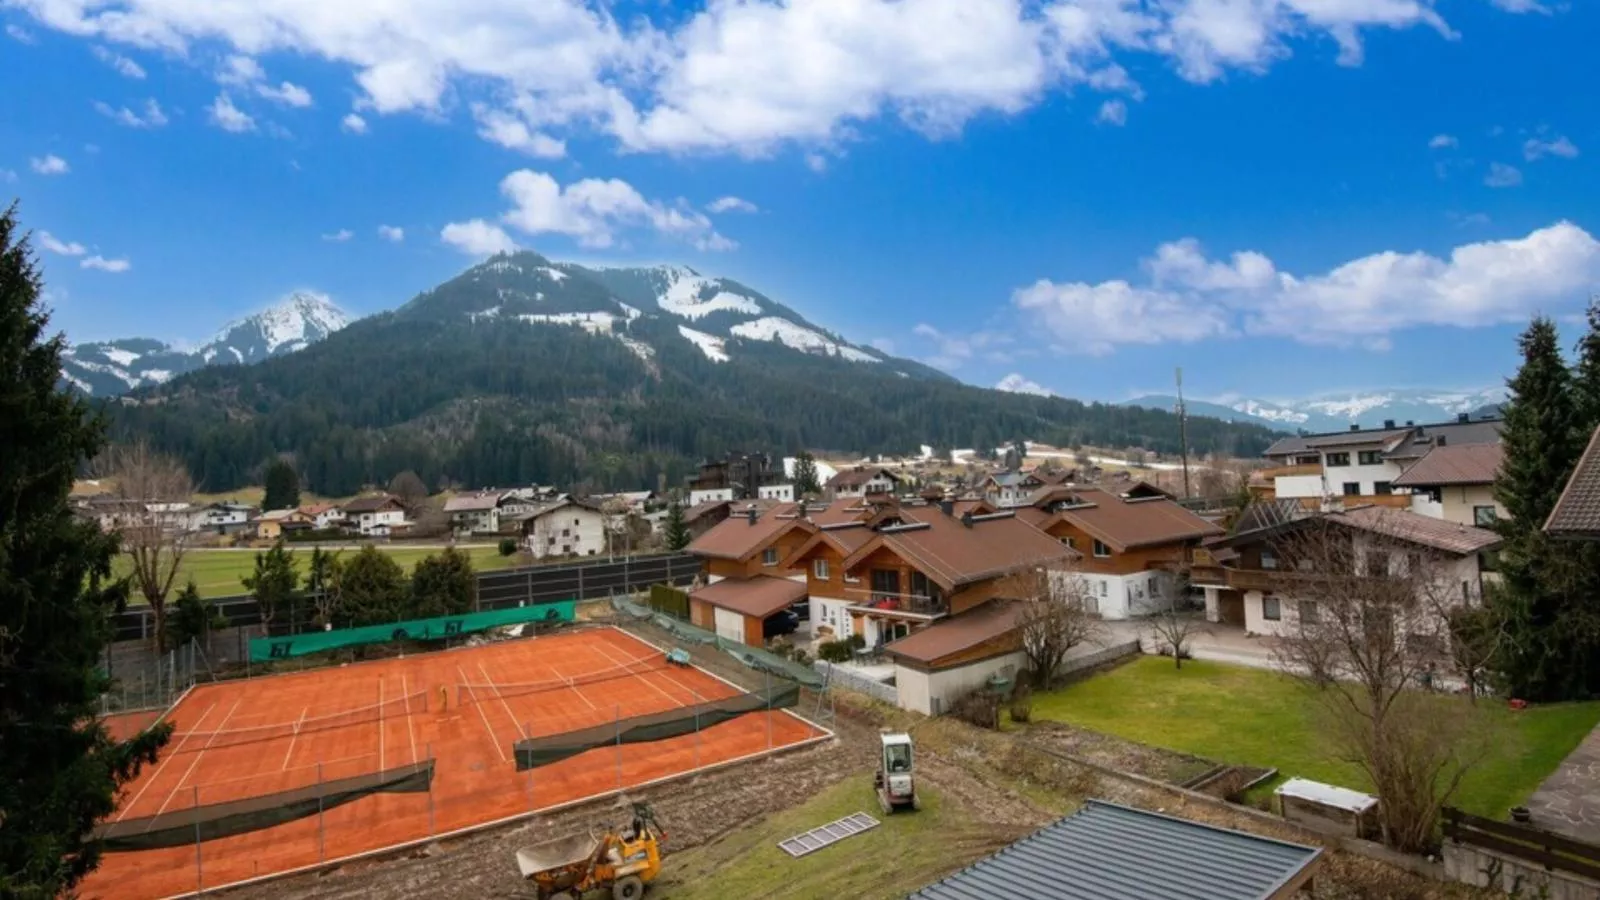
[(733, 275), (976, 384), (1123, 399), (1182, 365), (1272, 399), (1496, 384), (1530, 314), (1600, 288), (1597, 3), (0, 0), (0, 194), (48, 232), (74, 340), (198, 341), (296, 288), (374, 312), (518, 245)]

